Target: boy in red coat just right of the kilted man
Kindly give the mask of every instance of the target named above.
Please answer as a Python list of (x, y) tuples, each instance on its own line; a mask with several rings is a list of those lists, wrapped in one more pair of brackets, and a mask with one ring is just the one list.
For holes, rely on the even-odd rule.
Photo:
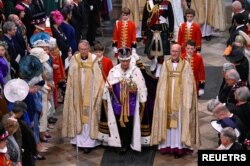
[(196, 43), (196, 50), (201, 51), (202, 33), (199, 24), (195, 23), (195, 11), (187, 9), (185, 11), (187, 21), (182, 23), (178, 32), (178, 44), (181, 45), (181, 52), (186, 51), (186, 43), (188, 40), (193, 40)]

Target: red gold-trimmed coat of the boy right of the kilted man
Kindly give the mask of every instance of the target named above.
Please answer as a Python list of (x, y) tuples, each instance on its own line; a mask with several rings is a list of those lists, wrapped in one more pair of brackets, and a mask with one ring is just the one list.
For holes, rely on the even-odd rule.
[(193, 40), (196, 44), (197, 50), (201, 50), (202, 34), (199, 24), (193, 22), (190, 29), (187, 28), (186, 22), (181, 24), (177, 42), (181, 45), (182, 53), (186, 51), (186, 42), (188, 40)]

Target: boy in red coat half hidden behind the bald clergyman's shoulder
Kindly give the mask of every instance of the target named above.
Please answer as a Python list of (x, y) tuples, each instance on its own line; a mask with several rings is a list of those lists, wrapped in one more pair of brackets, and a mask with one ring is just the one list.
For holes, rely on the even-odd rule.
[(202, 56), (196, 53), (195, 42), (192, 40), (187, 41), (185, 48), (186, 52), (182, 54), (182, 58), (190, 63), (194, 73), (197, 94), (202, 96), (205, 88), (205, 69)]

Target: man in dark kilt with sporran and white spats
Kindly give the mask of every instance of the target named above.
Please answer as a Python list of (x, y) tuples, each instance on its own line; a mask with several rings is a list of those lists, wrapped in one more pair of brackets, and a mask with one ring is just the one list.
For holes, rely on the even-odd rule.
[(142, 18), (142, 36), (145, 51), (151, 59), (151, 71), (158, 76), (164, 61), (164, 55), (170, 54), (170, 40), (173, 38), (174, 14), (168, 0), (148, 0)]

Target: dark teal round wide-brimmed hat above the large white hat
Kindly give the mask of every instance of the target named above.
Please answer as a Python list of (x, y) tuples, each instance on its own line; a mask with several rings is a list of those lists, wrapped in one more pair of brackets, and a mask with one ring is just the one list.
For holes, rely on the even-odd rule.
[(26, 55), (19, 62), (19, 72), (22, 79), (30, 81), (35, 76), (42, 74), (43, 66), (37, 57)]

